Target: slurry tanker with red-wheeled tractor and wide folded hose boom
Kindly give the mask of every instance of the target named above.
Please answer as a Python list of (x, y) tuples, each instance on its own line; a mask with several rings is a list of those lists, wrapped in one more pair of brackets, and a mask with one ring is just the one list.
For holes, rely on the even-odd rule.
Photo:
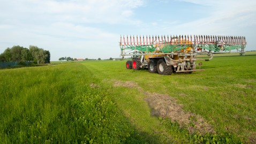
[[(132, 57), (127, 60), (126, 69), (148, 69), (150, 73), (170, 75), (172, 72), (202, 71), (196, 69), (196, 61), (208, 61), (214, 54), (237, 52), (244, 55), (246, 41), (244, 36), (126, 35), (120, 37), (119, 46), (123, 58)], [(198, 55), (209, 58), (197, 58)]]

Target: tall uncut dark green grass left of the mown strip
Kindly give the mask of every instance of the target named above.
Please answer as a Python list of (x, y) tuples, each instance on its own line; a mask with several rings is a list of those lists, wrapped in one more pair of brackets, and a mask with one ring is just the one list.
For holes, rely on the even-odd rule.
[(76, 64), (0, 71), (3, 143), (119, 143), (134, 130)]

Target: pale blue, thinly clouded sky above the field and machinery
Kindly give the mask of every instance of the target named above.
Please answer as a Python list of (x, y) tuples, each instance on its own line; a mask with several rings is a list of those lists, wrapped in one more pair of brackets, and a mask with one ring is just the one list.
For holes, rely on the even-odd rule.
[(13, 46), (61, 57), (120, 57), (121, 35), (245, 36), (256, 50), (254, 0), (0, 0), (0, 54)]

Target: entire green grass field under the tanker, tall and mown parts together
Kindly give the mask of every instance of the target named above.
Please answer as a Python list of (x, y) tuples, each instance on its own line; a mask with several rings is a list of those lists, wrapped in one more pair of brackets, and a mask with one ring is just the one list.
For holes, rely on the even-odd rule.
[(160, 75), (97, 60), (0, 70), (3, 143), (255, 143), (256, 55)]

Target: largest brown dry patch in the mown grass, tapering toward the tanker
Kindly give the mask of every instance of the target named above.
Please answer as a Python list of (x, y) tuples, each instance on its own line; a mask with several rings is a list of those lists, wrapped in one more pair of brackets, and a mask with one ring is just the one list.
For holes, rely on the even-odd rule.
[[(177, 122), (180, 127), (187, 127), (190, 133), (215, 133), (213, 127), (204, 118), (192, 112), (184, 111), (183, 105), (178, 104), (174, 97), (164, 94), (143, 92), (136, 82), (133, 81), (114, 81), (115, 87), (137, 88), (140, 92), (147, 95), (145, 101), (152, 109), (152, 115), (162, 118), (170, 118), (173, 123)], [(184, 94), (185, 96), (185, 94)]]

